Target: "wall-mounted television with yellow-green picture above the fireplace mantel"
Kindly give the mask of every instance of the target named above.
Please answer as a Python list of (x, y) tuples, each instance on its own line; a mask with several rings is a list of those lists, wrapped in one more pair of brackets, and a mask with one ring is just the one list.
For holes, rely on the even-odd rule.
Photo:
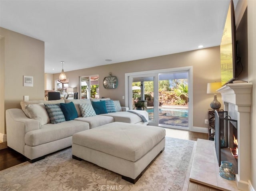
[(226, 23), (220, 43), (221, 84), (226, 85), (237, 79), (236, 24), (233, 0), (230, 0)]

